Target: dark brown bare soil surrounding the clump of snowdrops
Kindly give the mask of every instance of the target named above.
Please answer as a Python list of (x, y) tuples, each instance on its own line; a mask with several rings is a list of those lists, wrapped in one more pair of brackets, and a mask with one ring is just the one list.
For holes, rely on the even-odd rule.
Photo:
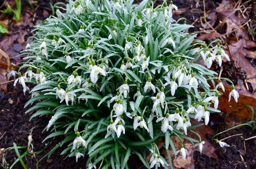
[[(11, 3), (11, 0), (9, 0)], [(8, 1), (8, 2), (9, 2)], [(64, 1), (64, 0), (62, 0)], [(2, 4), (3, 0), (0, 0)], [(52, 4), (60, 2), (60, 0), (52, 0)], [(174, 15), (175, 19), (184, 17), (187, 19), (188, 24), (193, 24), (194, 28), (190, 29), (190, 32), (199, 32), (201, 28), (200, 17), (204, 15), (204, 7), (202, 1), (199, 0), (173, 0), (174, 4), (179, 8), (184, 8), (185, 12)], [(199, 6), (196, 2), (199, 2)], [(206, 11), (214, 10), (221, 3), (221, 0), (206, 0), (205, 7)], [(26, 0), (22, 0), (23, 7), (29, 7)], [(197, 6), (196, 6), (197, 5)], [(44, 20), (51, 13), (51, 8), (49, 0), (39, 0), (35, 12), (35, 17), (33, 24), (37, 24), (38, 21)], [(26, 11), (23, 8), (22, 13)], [(20, 28), (13, 27), (13, 30), (18, 31)], [(31, 35), (31, 27), (22, 28), (28, 31), (28, 38)], [(0, 37), (1, 38), (1, 37)], [(230, 77), (229, 77), (230, 78)], [(10, 100), (11, 99), (11, 100)], [(12, 83), (8, 84), (8, 93), (0, 93), (0, 149), (8, 148), (13, 146), (15, 142), (18, 146), (26, 146), (28, 143), (29, 132), (31, 132), (33, 137), (34, 151), (39, 151), (45, 147), (45, 143), (42, 140), (49, 134), (47, 132), (42, 133), (44, 127), (47, 125), (48, 118), (34, 118), (29, 121), (31, 114), (24, 114), (26, 108), (24, 104), (28, 100), (28, 93), (24, 96), (20, 86), (13, 88)], [(13, 103), (11, 104), (11, 102)], [(224, 117), (222, 114), (211, 114), (211, 126), (218, 133), (226, 128), (224, 122)], [(33, 130), (31, 130), (33, 129)], [(256, 140), (250, 139), (244, 141), (244, 139), (255, 136), (256, 133), (252, 133), (251, 129), (248, 127), (242, 127), (240, 129), (229, 131), (225, 134), (219, 136), (220, 138), (225, 138), (227, 136), (232, 136), (234, 134), (243, 134), (240, 136), (234, 136), (226, 139), (227, 144), (232, 145), (231, 147), (221, 148), (219, 144), (212, 141), (212, 144), (216, 148), (215, 153), (218, 156), (218, 161), (213, 158), (209, 158), (204, 154), (200, 154), (199, 151), (194, 152), (194, 162), (196, 169), (234, 169), (234, 168), (256, 168)], [(209, 141), (211, 141), (212, 135), (209, 135)], [(47, 154), (59, 141), (63, 140), (64, 137), (58, 136), (55, 139), (51, 139), (51, 142), (47, 144), (47, 148), (40, 154), (37, 155), (26, 155), (24, 162), (28, 168), (36, 168), (37, 162)], [(39, 169), (71, 169), (71, 168), (85, 168), (86, 158), (80, 158), (78, 163), (76, 163), (75, 158), (66, 159), (63, 161), (63, 156), (60, 153), (67, 145), (63, 145), (60, 149), (57, 149), (49, 159), (45, 157), (39, 162)], [(20, 154), (24, 153), (24, 149), (20, 150)], [(0, 154), (0, 161), (3, 159), (3, 154)], [(8, 151), (5, 156), (7, 164), (5, 166), (10, 166), (13, 161), (17, 159), (15, 151)], [(131, 156), (128, 165), (131, 169), (144, 169), (145, 167), (137, 156)], [(22, 168), (21, 163), (18, 162), (14, 168)]]

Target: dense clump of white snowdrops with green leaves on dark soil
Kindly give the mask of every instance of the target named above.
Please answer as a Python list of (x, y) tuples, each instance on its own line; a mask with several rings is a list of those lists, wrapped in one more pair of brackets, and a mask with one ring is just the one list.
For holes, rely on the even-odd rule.
[[(172, 18), (177, 10), (172, 1), (153, 6), (148, 0), (70, 0), (57, 7), (56, 17), (34, 28), (33, 41), (23, 51), (28, 61), (20, 68), (27, 71), (18, 72), (14, 86), (21, 83), (25, 94), (26, 83), (36, 85), (25, 106), (34, 104), (26, 113), (37, 110), (31, 119), (51, 116), (45, 127), (51, 134), (44, 141), (65, 135), (49, 156), (68, 144), (62, 154), (76, 161), (88, 154), (84, 165), (90, 169), (96, 164), (123, 169), (131, 154), (147, 168), (166, 168), (170, 152), (167, 162), (156, 144), (163, 137), (164, 147), (184, 160), (184, 139), (202, 151), (204, 141), (193, 129), (219, 112), (222, 80), (229, 81), (209, 68), (229, 57), (218, 41), (207, 45), (187, 33), (192, 26)], [(197, 64), (201, 59), (207, 68)], [(230, 99), (237, 101), (232, 89)], [(191, 119), (202, 124), (191, 126)], [(180, 139), (180, 150), (170, 136)]]

